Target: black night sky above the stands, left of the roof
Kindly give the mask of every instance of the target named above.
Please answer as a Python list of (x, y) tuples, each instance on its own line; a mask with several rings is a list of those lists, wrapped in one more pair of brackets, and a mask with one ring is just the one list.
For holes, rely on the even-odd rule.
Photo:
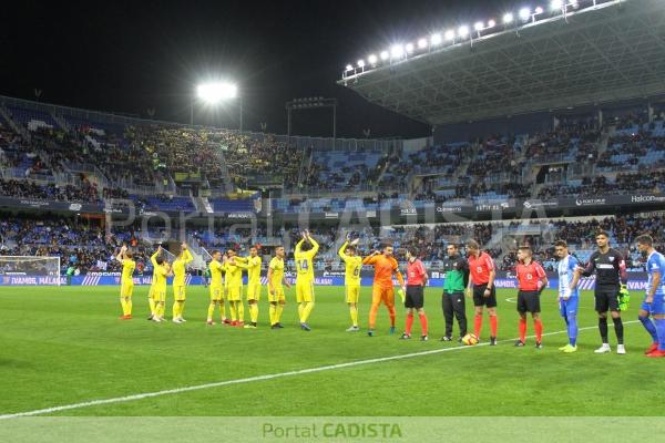
[[(336, 84), (347, 63), (395, 42), (478, 20), (509, 1), (113, 1), (2, 6), (0, 94), (186, 123), (195, 85), (236, 81), (245, 128), (286, 133), (284, 103), (336, 97), (338, 136), (429, 135), (430, 128)], [(544, 1), (541, 2), (545, 6)], [(63, 4), (66, 4), (64, 7)], [(536, 4), (530, 4), (532, 7)], [(218, 74), (218, 75), (217, 75)], [(237, 104), (196, 107), (196, 123), (237, 127)], [(331, 112), (294, 114), (294, 134), (331, 135)]]

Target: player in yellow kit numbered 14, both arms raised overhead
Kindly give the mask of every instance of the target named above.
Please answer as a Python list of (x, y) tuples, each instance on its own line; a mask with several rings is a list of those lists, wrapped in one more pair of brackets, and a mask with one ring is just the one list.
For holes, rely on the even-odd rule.
[(308, 230), (303, 233), (303, 238), (296, 244), (294, 258), (296, 259), (296, 301), (298, 302), (298, 315), (300, 316), (300, 329), (310, 331), (307, 319), (314, 309), (314, 257), (318, 253), (319, 245), (309, 235)]

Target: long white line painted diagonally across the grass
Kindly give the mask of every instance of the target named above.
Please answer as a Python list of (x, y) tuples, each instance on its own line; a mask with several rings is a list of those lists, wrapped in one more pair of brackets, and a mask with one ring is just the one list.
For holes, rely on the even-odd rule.
[[(632, 321), (625, 321), (624, 324), (631, 324), (631, 323), (637, 323), (637, 322), (638, 322), (638, 320), (632, 320)], [(596, 329), (596, 328), (597, 328), (597, 326), (589, 326), (589, 327), (580, 328), (579, 330), (584, 331), (584, 330)], [(556, 336), (556, 334), (565, 333), (565, 332), (566, 332), (565, 330), (555, 331), (555, 332), (546, 332), (546, 333), (543, 333), (543, 336)], [(529, 336), (529, 338), (534, 338), (534, 337), (535, 336)], [(516, 340), (516, 338), (508, 339), (508, 340), (499, 340), (498, 342), (503, 343), (503, 342), (511, 342), (514, 340)], [(432, 356), (432, 354), (437, 354), (437, 353), (451, 352), (451, 351), (462, 351), (464, 349), (474, 349), (478, 347), (483, 347), (483, 346), (489, 346), (489, 344), (490, 344), (489, 342), (481, 342), (474, 347), (459, 346), (459, 347), (454, 347), (454, 348), (439, 348), (439, 349), (432, 349), (430, 351), (420, 351), (420, 352), (405, 353), (405, 354), (400, 354), (400, 356), (390, 356), (390, 357), (379, 357), (376, 359), (367, 359), (367, 360), (356, 360), (356, 361), (349, 361), (347, 363), (328, 364), (325, 367), (300, 369), (297, 371), (288, 371), (288, 372), (280, 372), (280, 373), (265, 374), (265, 375), (255, 375), (255, 377), (248, 377), (245, 379), (225, 380), (225, 381), (218, 381), (218, 382), (213, 382), (213, 383), (196, 384), (193, 387), (167, 389), (164, 391), (145, 392), (145, 393), (141, 393), (141, 394), (116, 396), (116, 398), (112, 398), (112, 399), (91, 400), (91, 401), (86, 401), (86, 402), (82, 402), (82, 403), (65, 404), (62, 406), (53, 406), (53, 408), (47, 408), (47, 409), (38, 409), (34, 411), (17, 412), (13, 414), (3, 414), (3, 415), (0, 415), (0, 420), (18, 419), (21, 416), (43, 415), (43, 414), (50, 414), (50, 413), (54, 413), (54, 412), (70, 411), (72, 409), (99, 406), (101, 404), (126, 403), (126, 402), (131, 402), (131, 401), (135, 401), (135, 400), (150, 399), (153, 396), (180, 394), (182, 392), (200, 391), (203, 389), (219, 388), (219, 387), (228, 387), (232, 384), (242, 384), (242, 383), (250, 383), (250, 382), (255, 382), (255, 381), (283, 379), (286, 377), (303, 375), (303, 374), (324, 372), (324, 371), (332, 371), (336, 369), (352, 368), (352, 367), (359, 367), (359, 365), (364, 365), (364, 364), (382, 363), (386, 361), (411, 359), (415, 357)]]

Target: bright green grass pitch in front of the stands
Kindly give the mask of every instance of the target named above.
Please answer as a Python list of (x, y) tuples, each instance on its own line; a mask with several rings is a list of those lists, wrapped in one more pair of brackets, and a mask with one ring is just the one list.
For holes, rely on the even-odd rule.
[[(134, 293), (134, 320), (117, 320), (116, 287), (0, 288), (0, 414), (280, 373), (423, 350), (442, 343), (440, 290), (428, 289), (429, 342), (388, 336), (382, 308), (378, 336), (347, 333), (342, 288), (318, 287), (309, 333), (297, 328), (293, 290), (283, 322), (243, 330), (204, 324), (207, 292), (190, 287), (185, 324), (145, 321), (146, 287)], [(171, 296), (171, 295), (170, 295)], [(499, 292), (499, 339), (516, 336), (514, 291)], [(638, 296), (635, 295), (634, 299)], [(369, 288), (361, 292), (367, 321)], [(553, 291), (543, 295), (544, 349), (475, 347), (410, 359), (298, 374), (282, 379), (168, 394), (63, 411), (60, 415), (657, 415), (665, 403), (665, 361), (646, 359), (648, 339), (626, 326), (627, 356), (596, 356), (595, 328), (580, 334), (580, 351), (566, 342)], [(625, 320), (636, 318), (637, 302)], [(591, 293), (583, 295), (581, 327), (596, 324)], [(171, 306), (167, 307), (167, 315)], [(471, 319), (471, 306), (467, 313)], [(246, 316), (248, 310), (246, 310)], [(170, 317), (170, 316), (168, 316)], [(403, 327), (398, 311), (398, 329)], [(612, 323), (611, 323), (612, 324)], [(488, 334), (485, 320), (483, 336)], [(532, 324), (529, 323), (530, 334)], [(415, 326), (415, 334), (419, 324)], [(614, 343), (611, 328), (611, 342)]]

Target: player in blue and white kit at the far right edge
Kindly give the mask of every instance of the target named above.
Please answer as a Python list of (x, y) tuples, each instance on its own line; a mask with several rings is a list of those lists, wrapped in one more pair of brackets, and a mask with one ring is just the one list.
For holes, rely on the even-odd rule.
[[(646, 257), (648, 281), (644, 301), (640, 307), (640, 321), (652, 337), (646, 357), (665, 357), (665, 257), (654, 249), (654, 239), (648, 235), (636, 238), (637, 250)], [(653, 320), (652, 320), (653, 318)]]

